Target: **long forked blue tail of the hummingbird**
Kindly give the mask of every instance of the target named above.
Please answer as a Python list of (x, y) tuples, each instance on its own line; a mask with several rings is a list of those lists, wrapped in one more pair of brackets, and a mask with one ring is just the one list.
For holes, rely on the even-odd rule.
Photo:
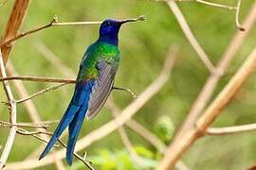
[(46, 148), (39, 160), (43, 159), (52, 146), (58, 141), (64, 129), (68, 127), (69, 129), (69, 137), (66, 148), (66, 161), (69, 165), (73, 162), (73, 151), (75, 148), (75, 144), (82, 127), (82, 122), (84, 120), (85, 114), (88, 110), (88, 102), (89, 96), (91, 93), (91, 89), (94, 85), (94, 81), (87, 81), (85, 83), (79, 83), (76, 86), (75, 93), (73, 98), (64, 113), (64, 116), (54, 131), (50, 141), (46, 145)]

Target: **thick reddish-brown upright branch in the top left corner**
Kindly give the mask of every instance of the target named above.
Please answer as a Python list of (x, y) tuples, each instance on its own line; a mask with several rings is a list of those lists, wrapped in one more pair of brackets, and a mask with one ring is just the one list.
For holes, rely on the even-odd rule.
[[(27, 8), (29, 7), (29, 0), (15, 0), (12, 11), (9, 15), (9, 21), (6, 27), (6, 32), (2, 42), (9, 40), (9, 38), (14, 37), (26, 16)], [(9, 59), (9, 52), (11, 50), (11, 45), (1, 46), (2, 54), (4, 57), (4, 63)]]

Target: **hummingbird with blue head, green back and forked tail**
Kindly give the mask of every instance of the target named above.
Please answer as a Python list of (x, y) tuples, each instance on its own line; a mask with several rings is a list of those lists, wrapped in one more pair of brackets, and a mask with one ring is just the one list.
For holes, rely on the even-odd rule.
[(68, 127), (65, 159), (70, 166), (72, 165), (73, 152), (84, 118), (91, 119), (97, 115), (112, 91), (119, 68), (120, 26), (144, 19), (144, 16), (121, 21), (107, 19), (101, 23), (99, 39), (89, 45), (82, 56), (73, 97), (39, 160), (46, 157), (64, 129)]

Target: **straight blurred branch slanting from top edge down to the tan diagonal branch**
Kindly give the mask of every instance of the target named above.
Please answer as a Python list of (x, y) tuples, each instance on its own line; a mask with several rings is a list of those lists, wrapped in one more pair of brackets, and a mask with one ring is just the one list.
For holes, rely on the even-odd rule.
[(174, 16), (181, 27), (184, 35), (188, 39), (188, 41), (191, 43), (192, 48), (197, 53), (199, 58), (204, 62), (206, 67), (210, 70), (210, 73), (215, 73), (215, 68), (213, 64), (210, 61), (210, 58), (204, 51), (204, 49), (200, 46), (199, 42), (197, 42), (196, 38), (192, 34), (192, 30), (190, 26), (187, 24), (185, 17), (181, 13), (180, 9), (177, 7), (174, 1), (167, 1), (166, 2), (168, 6), (171, 8), (171, 10), (174, 12)]

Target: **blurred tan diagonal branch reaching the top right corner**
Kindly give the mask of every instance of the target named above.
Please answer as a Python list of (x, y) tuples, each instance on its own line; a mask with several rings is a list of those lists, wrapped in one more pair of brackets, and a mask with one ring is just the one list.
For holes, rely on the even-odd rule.
[(222, 55), (221, 59), (219, 60), (216, 70), (219, 70), (219, 73), (222, 74), (211, 74), (204, 87), (202, 88), (201, 92), (197, 96), (196, 100), (192, 105), (192, 109), (187, 114), (186, 119), (183, 121), (182, 126), (179, 128), (177, 134), (174, 137), (173, 144), (179, 142), (180, 137), (184, 134), (187, 130), (191, 129), (194, 125), (195, 120), (198, 118), (202, 110), (205, 109), (207, 103), (210, 101), (210, 97), (216, 88), (216, 85), (223, 76), (229, 67), (230, 61), (234, 58), (237, 51), (240, 49), (242, 44), (245, 42), (248, 33), (250, 32), (251, 28), (256, 23), (256, 3), (253, 4), (252, 8), (247, 14), (247, 18), (243, 24), (246, 27), (247, 31), (241, 32), (237, 31), (229, 43), (228, 48)]

